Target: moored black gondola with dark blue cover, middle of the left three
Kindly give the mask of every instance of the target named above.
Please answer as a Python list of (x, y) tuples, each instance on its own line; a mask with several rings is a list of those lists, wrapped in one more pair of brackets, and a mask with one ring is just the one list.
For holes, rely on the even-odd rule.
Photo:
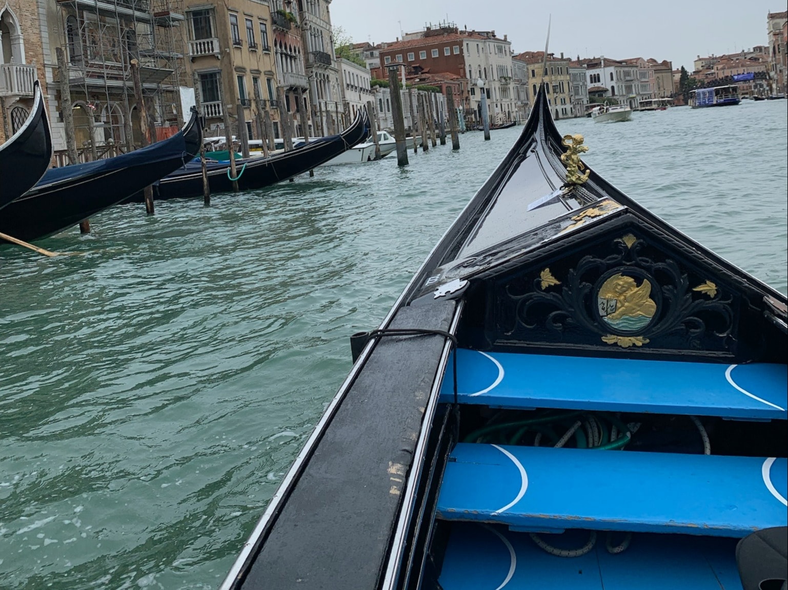
[(197, 112), (170, 138), (106, 160), (47, 171), (0, 213), (0, 232), (26, 241), (45, 238), (125, 201), (199, 153)]

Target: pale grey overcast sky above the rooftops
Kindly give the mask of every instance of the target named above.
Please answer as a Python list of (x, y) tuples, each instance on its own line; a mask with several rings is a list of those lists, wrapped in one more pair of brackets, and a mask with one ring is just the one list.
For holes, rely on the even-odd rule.
[(766, 15), (786, 0), (649, 0), (641, 2), (523, 2), (522, 0), (333, 0), (331, 20), (354, 42), (394, 41), (430, 21), (508, 35), (512, 49), (544, 50), (552, 13), (550, 51), (573, 59), (654, 57), (692, 71), (698, 54), (733, 53), (767, 45)]

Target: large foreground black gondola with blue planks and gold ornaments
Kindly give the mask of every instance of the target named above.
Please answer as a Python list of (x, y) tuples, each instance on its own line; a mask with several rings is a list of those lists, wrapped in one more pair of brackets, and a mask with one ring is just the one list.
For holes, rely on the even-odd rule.
[(786, 297), (584, 151), (539, 90), (222, 590), (742, 588), (786, 525)]

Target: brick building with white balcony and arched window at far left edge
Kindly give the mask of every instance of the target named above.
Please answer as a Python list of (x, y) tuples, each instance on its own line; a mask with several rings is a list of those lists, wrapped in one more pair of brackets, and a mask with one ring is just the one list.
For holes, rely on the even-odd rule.
[(33, 82), (44, 79), (39, 18), (38, 6), (29, 0), (6, 0), (0, 6), (0, 143), (24, 124)]

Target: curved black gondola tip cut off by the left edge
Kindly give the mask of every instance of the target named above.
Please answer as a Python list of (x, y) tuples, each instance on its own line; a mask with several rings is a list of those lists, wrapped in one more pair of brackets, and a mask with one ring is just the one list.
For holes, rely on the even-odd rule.
[[(49, 168), (52, 137), (41, 86), (33, 85), (33, 106), (24, 124), (0, 146), (0, 209), (21, 197)], [(0, 213), (0, 218), (2, 218)]]

